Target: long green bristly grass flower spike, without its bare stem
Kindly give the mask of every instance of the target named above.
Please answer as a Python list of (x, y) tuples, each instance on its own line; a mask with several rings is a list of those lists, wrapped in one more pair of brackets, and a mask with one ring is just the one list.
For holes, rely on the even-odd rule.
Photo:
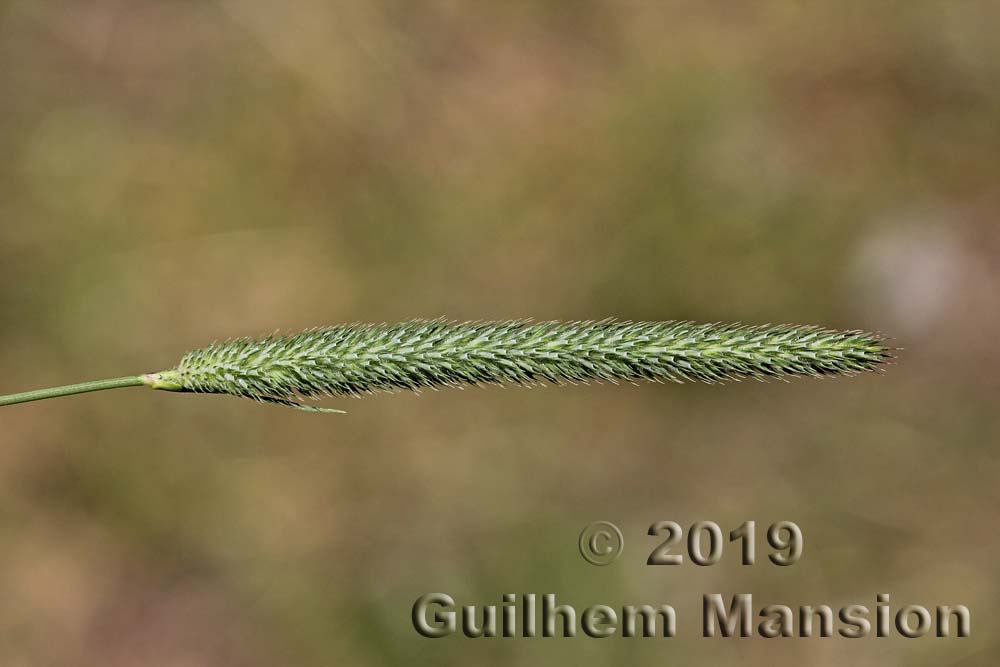
[(815, 326), (414, 320), (215, 343), (144, 383), (326, 411), (296, 401), (481, 384), (853, 375), (892, 352), (878, 335)]

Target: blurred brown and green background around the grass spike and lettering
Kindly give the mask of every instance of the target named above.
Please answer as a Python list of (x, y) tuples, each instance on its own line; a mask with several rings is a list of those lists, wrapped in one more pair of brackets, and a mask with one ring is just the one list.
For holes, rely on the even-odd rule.
[[(0, 2), (0, 393), (411, 317), (886, 332), (884, 376), (0, 415), (4, 665), (995, 664), (995, 3)], [(622, 559), (577, 553), (587, 523)], [(802, 561), (648, 567), (657, 520)], [(673, 604), (422, 639), (414, 600)], [(972, 637), (699, 637), (701, 595)]]

